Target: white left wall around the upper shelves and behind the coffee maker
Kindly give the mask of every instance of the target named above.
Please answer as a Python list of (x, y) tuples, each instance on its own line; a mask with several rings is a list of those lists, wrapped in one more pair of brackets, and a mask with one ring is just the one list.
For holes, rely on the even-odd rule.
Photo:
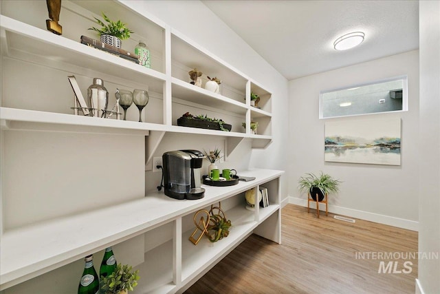
[[(267, 149), (250, 149), (249, 142), (243, 142), (232, 153), (222, 167), (243, 169), (259, 167), (287, 170), (287, 80), (276, 72), (259, 54), (243, 41), (228, 25), (225, 25), (200, 1), (122, 1), (137, 12), (153, 14), (171, 28), (188, 36), (212, 54), (215, 54), (237, 70), (247, 74), (265, 89), (272, 92), (272, 136), (273, 143)], [(167, 135), (168, 136), (168, 135)], [(220, 147), (222, 142), (215, 138), (191, 137), (190, 141), (179, 140), (181, 136), (170, 135), (161, 143), (154, 156), (164, 151), (192, 148)], [(176, 139), (176, 140), (174, 140)], [(179, 143), (176, 143), (179, 142)], [(206, 168), (203, 167), (203, 168)], [(152, 180), (149, 180), (152, 179)], [(154, 189), (160, 177), (146, 172), (146, 189)], [(287, 197), (287, 181), (283, 181), (281, 197)]]

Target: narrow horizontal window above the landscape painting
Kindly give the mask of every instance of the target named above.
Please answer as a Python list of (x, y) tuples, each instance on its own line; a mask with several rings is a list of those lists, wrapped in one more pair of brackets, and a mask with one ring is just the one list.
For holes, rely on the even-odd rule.
[(319, 118), (406, 110), (407, 76), (320, 92)]

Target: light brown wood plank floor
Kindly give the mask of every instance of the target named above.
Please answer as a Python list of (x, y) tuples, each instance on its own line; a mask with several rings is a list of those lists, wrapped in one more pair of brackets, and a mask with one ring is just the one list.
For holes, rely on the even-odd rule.
[(251, 235), (185, 293), (415, 293), (417, 258), (401, 256), (392, 260), (396, 273), (378, 273), (380, 262), (391, 260), (368, 259), (366, 252), (414, 255), (417, 232), (331, 213), (318, 219), (316, 210), (294, 204), (282, 213), (283, 244)]

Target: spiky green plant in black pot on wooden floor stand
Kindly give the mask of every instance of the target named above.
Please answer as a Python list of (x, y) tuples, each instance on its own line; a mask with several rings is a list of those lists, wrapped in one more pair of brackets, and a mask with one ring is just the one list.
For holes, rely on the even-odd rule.
[(337, 193), (339, 191), (339, 183), (340, 180), (336, 180), (329, 174), (322, 173), (322, 171), (319, 176), (307, 173), (298, 180), (298, 189), (309, 192), (311, 198), (315, 201), (318, 194), (318, 201), (322, 201), (326, 193)]

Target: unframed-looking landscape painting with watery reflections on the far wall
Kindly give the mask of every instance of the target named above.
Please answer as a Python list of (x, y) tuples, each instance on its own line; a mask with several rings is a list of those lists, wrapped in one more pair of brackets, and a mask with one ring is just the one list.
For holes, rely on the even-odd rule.
[(400, 165), (401, 120), (325, 123), (325, 161)]

